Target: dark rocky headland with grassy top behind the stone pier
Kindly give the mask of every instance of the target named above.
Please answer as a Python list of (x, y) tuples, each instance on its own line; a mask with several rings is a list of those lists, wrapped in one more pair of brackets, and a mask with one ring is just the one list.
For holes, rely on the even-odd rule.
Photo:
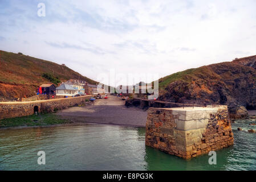
[(256, 108), (256, 56), (212, 64), (160, 79), (159, 100), (206, 100), (229, 107), (233, 118)]

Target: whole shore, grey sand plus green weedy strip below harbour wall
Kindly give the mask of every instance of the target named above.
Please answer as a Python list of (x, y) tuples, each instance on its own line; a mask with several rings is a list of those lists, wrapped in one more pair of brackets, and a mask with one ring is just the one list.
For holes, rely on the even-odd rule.
[(145, 127), (146, 121), (147, 112), (135, 107), (127, 108), (119, 97), (109, 96), (107, 100), (98, 99), (92, 105), (68, 107), (56, 113), (2, 119), (0, 129), (84, 124)]

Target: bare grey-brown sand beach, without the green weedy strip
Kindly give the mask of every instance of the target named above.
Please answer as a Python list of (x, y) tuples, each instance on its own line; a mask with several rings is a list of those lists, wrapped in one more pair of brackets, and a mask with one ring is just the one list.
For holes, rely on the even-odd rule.
[(97, 99), (94, 105), (70, 107), (60, 110), (57, 115), (72, 122), (100, 123), (108, 125), (145, 127), (147, 111), (136, 107), (125, 107), (124, 102), (117, 96), (108, 99)]

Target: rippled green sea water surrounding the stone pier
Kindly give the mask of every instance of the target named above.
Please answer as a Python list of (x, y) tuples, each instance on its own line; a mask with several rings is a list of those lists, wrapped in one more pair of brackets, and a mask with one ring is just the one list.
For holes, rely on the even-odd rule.
[[(255, 170), (256, 134), (233, 123), (234, 146), (185, 160), (145, 146), (145, 129), (86, 124), (0, 130), (0, 170)], [(39, 165), (38, 151), (46, 153)]]

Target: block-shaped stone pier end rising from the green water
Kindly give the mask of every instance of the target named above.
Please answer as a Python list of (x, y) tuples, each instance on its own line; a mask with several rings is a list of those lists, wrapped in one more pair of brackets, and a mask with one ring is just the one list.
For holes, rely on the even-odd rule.
[(227, 106), (149, 108), (147, 146), (190, 159), (233, 145)]

